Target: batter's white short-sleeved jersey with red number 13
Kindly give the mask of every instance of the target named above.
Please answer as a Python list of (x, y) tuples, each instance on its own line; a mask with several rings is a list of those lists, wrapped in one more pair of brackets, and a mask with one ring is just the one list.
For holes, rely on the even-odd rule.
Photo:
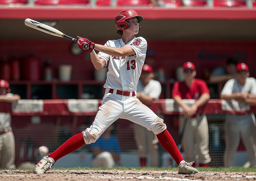
[(115, 57), (99, 52), (99, 58), (103, 58), (106, 63), (109, 62), (107, 80), (104, 88), (112, 88), (127, 91), (136, 91), (141, 69), (146, 58), (147, 41), (143, 37), (134, 37), (125, 44), (122, 38), (118, 40), (109, 40), (104, 46), (121, 48), (131, 47), (134, 55), (125, 57)]

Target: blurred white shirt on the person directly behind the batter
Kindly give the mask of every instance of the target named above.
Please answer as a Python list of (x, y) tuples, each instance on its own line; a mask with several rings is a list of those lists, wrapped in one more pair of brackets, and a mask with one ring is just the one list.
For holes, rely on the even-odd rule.
[(137, 92), (141, 92), (153, 99), (159, 99), (159, 96), (162, 92), (162, 86), (159, 81), (150, 79), (148, 84), (144, 87), (142, 81), (139, 80), (137, 85)]

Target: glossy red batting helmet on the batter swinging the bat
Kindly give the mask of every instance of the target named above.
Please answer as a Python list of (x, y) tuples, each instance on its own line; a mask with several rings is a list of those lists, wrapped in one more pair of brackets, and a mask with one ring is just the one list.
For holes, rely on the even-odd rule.
[(144, 20), (142, 16), (138, 16), (137, 12), (132, 9), (122, 10), (120, 11), (116, 16), (116, 27), (117, 30), (126, 30), (129, 28), (130, 24), (128, 21), (126, 21), (129, 18), (136, 17), (138, 19), (138, 22), (141, 22)]

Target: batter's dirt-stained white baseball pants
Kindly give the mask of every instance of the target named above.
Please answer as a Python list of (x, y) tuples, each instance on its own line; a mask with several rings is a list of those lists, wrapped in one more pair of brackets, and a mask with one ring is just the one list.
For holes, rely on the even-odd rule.
[(127, 119), (146, 127), (154, 134), (166, 130), (164, 120), (159, 118), (151, 109), (142, 104), (136, 96), (123, 96), (109, 93), (106, 88), (105, 95), (92, 125), (82, 131), (86, 144), (94, 143), (100, 135), (118, 118)]

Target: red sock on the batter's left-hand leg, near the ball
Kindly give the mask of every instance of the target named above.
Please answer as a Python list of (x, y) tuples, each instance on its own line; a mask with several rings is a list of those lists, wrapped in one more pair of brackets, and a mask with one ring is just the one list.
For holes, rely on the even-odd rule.
[(48, 156), (53, 158), (56, 162), (58, 159), (62, 158), (63, 156), (79, 149), (81, 146), (85, 144), (83, 139), (83, 134), (78, 133), (68, 139), (65, 143), (63, 143), (57, 150), (53, 153), (49, 154)]

